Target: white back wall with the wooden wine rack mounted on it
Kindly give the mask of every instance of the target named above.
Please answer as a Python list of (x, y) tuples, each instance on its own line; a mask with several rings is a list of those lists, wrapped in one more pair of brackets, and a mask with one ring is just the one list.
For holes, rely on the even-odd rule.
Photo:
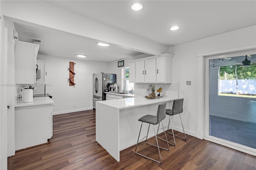
[[(53, 114), (62, 114), (92, 109), (92, 74), (108, 72), (107, 63), (71, 59), (38, 54), (37, 59), (46, 60), (46, 93), (55, 102)], [(75, 62), (74, 82), (69, 86), (69, 62)], [(76, 107), (73, 107), (76, 104)]]

